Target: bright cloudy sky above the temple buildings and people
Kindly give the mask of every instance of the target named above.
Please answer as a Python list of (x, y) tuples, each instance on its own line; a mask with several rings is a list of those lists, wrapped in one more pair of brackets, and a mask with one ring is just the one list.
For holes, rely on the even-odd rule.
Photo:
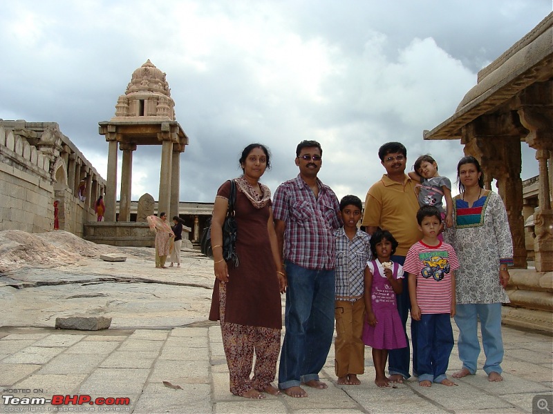
[[(551, 0), (1, 1), (0, 118), (55, 121), (106, 178), (98, 122), (133, 71), (167, 73), (189, 136), (181, 201), (213, 201), (252, 142), (272, 151), (274, 191), (297, 175), (303, 139), (323, 147), (319, 177), (362, 199), (384, 172), (377, 149), (402, 141), (455, 181), (459, 141), (423, 141)], [(524, 149), (527, 149), (525, 144)], [(523, 179), (537, 174), (525, 150)], [(158, 198), (161, 147), (133, 155), (133, 199)], [(121, 160), (121, 152), (119, 155)], [(120, 169), (119, 169), (120, 172)], [(119, 179), (118, 179), (119, 185)], [(119, 190), (118, 190), (119, 192)]]

